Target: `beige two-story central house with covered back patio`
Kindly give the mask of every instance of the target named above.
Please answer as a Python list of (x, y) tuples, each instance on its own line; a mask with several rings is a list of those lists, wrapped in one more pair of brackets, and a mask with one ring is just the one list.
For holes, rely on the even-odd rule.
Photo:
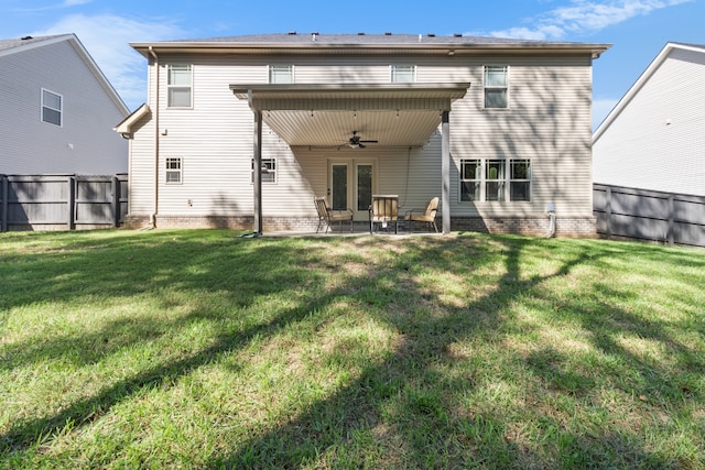
[(362, 222), (373, 194), (393, 194), (400, 212), (440, 196), (444, 232), (544, 234), (553, 207), (558, 236), (595, 234), (592, 65), (609, 45), (389, 33), (131, 45), (149, 61), (149, 101), (116, 128), (131, 139), (129, 226), (307, 230), (314, 196)]

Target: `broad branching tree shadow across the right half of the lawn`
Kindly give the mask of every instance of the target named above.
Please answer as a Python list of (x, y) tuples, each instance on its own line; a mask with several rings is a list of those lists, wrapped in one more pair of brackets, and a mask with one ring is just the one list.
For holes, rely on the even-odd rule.
[[(505, 252), (506, 264), (506, 273), (497, 283), (498, 289), (467, 306), (445, 304), (445, 315), (424, 318), (414, 317), (413, 313), (388, 315), (379, 311), (379, 317), (403, 337), (403, 342), (391, 357), (380, 364), (371, 364), (357, 381), (333, 396), (312, 404), (306, 413), (291, 417), (288, 423), (269, 433), (242, 442), (241, 450), (235, 455), (215, 457), (208, 467), (377, 467), (380, 462), (392, 468), (680, 466), (677, 458), (684, 456), (670, 456), (668, 451), (654, 452), (648, 448), (638, 429), (623, 428), (619, 424), (600, 429), (600, 419), (603, 415), (608, 416), (609, 411), (597, 409), (595, 423), (585, 423), (583, 426), (566, 424), (566, 416), (575, 414), (575, 409), (586, 404), (589, 406), (592, 398), (587, 398), (586, 403), (583, 397), (588, 395), (589, 389), (597, 385), (579, 372), (570, 369), (558, 372), (552, 367), (539, 365), (544, 364), (545, 356), (549, 356), (551, 360), (567, 362), (570, 368), (567, 358), (562, 358), (556, 350), (536, 351), (520, 361), (529, 372), (535, 374), (535, 381), (529, 382), (529, 386), (535, 390), (527, 393), (534, 393), (536, 397), (552, 395), (546, 402), (529, 400), (523, 406), (519, 405), (528, 412), (508, 409), (511, 405), (508, 408), (488, 409), (485, 404), (474, 408), (473, 401), (467, 397), (481, 394), (478, 389), (491, 384), (481, 382), (473, 373), (455, 376), (442, 373), (453, 370), (458, 360), (468, 360), (468, 357), (458, 357), (454, 352), (455, 345), (476, 336), (486, 336), (489, 331), (509, 334), (512, 330), (511, 323), (514, 318), (507, 307), (513, 299), (533, 295), (538, 286), (547, 278), (568, 275), (574, 267), (608, 255), (595, 248), (581, 250), (555, 273), (522, 280), (522, 250), (538, 243), (541, 241), (525, 239), (498, 243), (497, 249)], [(455, 249), (463, 247), (458, 244)], [(434, 266), (435, 263), (429, 260), (459, 254), (459, 251), (446, 252), (443, 242), (438, 242), (432, 249), (410, 249), (406, 254), (401, 255), (398, 264), (444, 270), (448, 267), (445, 262)], [(471, 256), (460, 255), (458, 259), (473, 262)], [(469, 269), (478, 267), (480, 266), (475, 265)], [(404, 270), (398, 269), (395, 272), (401, 275), (391, 280), (392, 284), (409, 286), (410, 278), (404, 275)], [(373, 271), (369, 275), (380, 276)], [(383, 281), (388, 284), (390, 280)], [(424, 292), (425, 287), (416, 285), (415, 291)], [(403, 293), (397, 292), (397, 296)], [(381, 310), (393, 311), (398, 307), (393, 298), (393, 295), (390, 296)], [(606, 308), (609, 315), (629, 317), (625, 311), (609, 306)], [(590, 320), (594, 313), (582, 311), (579, 308), (576, 310), (583, 326), (596, 337), (594, 340), (588, 339), (595, 348), (612, 352), (617, 350), (626, 363), (636, 363), (640, 368), (638, 373), (646, 382), (660, 382), (654, 386), (662, 386), (671, 379), (668, 375), (658, 379), (649, 376), (651, 364), (644, 364), (623, 348), (609, 342), (606, 339), (608, 335), (601, 332), (604, 326)], [(629, 321), (638, 325), (640, 319), (630, 317)], [(653, 326), (649, 326), (647, 330), (655, 340), (670, 341), (669, 335), (662, 329), (654, 330)], [(610, 327), (608, 331), (618, 334), (619, 325)], [(682, 351), (683, 347), (676, 346), (676, 349)], [(522, 353), (518, 351), (516, 356), (521, 358)], [(702, 363), (693, 364), (691, 371), (695, 371), (698, 365), (702, 367)], [(491, 368), (491, 364), (480, 362), (477, 367)], [(617, 379), (614, 371), (606, 370), (605, 373), (611, 375), (610, 379)], [(502, 378), (500, 372), (497, 380), (511, 382), (512, 378)], [(501, 389), (498, 390), (501, 393)], [(633, 393), (631, 390), (623, 392)], [(701, 396), (694, 400), (702, 402)], [(498, 402), (501, 403), (501, 398)], [(664, 404), (664, 409), (668, 407)], [(540, 435), (531, 436), (529, 430), (522, 430), (521, 419), (525, 415), (518, 416), (518, 413), (533, 416), (539, 423), (536, 431)], [(687, 457), (690, 456), (685, 456), (685, 467), (688, 466)]]

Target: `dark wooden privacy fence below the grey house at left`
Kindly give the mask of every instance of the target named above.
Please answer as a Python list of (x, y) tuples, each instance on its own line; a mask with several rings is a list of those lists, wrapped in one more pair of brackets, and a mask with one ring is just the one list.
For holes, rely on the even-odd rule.
[(128, 175), (0, 175), (0, 230), (118, 227)]

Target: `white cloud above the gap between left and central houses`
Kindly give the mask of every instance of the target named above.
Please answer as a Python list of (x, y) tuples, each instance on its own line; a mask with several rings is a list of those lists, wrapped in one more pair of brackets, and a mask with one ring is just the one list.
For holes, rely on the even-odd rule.
[[(67, 2), (82, 0), (67, 0)], [(34, 36), (74, 33), (108, 77), (130, 110), (147, 99), (147, 61), (130, 42), (172, 40), (182, 30), (167, 21), (139, 21), (117, 15), (74, 14)]]

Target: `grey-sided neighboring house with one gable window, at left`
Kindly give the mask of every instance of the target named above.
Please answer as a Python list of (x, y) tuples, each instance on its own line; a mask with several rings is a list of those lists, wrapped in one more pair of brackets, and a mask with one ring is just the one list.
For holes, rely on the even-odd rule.
[(129, 110), (74, 34), (0, 40), (0, 174), (128, 171)]

